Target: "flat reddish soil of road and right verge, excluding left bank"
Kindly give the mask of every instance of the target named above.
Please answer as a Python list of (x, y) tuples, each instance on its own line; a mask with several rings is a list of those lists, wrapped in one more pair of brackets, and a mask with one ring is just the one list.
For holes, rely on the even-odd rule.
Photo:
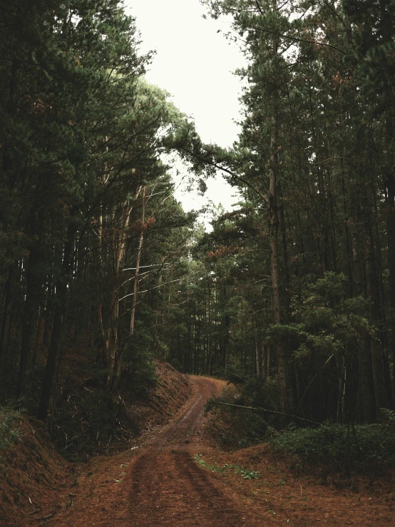
[[(190, 383), (193, 394), (173, 422), (156, 426), (121, 454), (81, 465), (70, 488), (53, 502), (61, 508), (45, 524), (395, 526), (394, 494), (388, 489), (386, 493), (355, 494), (314, 484), (308, 477), (296, 478), (265, 445), (232, 454), (208, 446), (205, 401), (218, 394), (225, 383), (203, 377), (190, 377)], [(242, 479), (231, 469), (212, 472), (198, 466), (195, 454), (212, 465), (237, 464), (258, 470), (260, 479)], [(0, 519), (4, 527), (39, 523), (43, 520), (1, 523)]]

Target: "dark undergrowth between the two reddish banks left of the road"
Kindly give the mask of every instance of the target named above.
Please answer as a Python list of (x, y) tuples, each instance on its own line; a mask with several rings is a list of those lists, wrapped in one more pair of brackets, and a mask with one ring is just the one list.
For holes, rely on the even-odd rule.
[(140, 433), (140, 415), (130, 409), (138, 401), (148, 400), (155, 389), (156, 363), (146, 355), (126, 351), (115, 392), (106, 388), (105, 369), (85, 367), (85, 379), (74, 369), (63, 370), (48, 428), (67, 459), (87, 461), (98, 454), (122, 450), (130, 436)]

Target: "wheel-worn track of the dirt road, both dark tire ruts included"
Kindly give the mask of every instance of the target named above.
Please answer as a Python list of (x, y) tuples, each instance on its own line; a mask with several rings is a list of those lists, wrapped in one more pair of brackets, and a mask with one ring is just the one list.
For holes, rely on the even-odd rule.
[(193, 404), (130, 467), (130, 525), (240, 527), (245, 523), (242, 511), (189, 452), (205, 402), (215, 390), (205, 379), (193, 382), (199, 393)]

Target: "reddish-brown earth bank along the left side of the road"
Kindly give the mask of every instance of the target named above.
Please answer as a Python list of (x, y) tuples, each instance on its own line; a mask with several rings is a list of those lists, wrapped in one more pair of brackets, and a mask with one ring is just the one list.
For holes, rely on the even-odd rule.
[[(158, 363), (157, 374), (155, 389), (127, 408), (130, 418), (140, 422), (141, 441), (155, 426), (170, 421), (191, 394), (187, 377), (170, 364)], [(73, 506), (78, 465), (58, 454), (41, 421), (22, 415), (13, 427), (19, 435), (0, 452), (0, 527), (38, 525)], [(126, 430), (125, 436), (126, 441), (109, 446), (109, 454), (130, 449), (136, 441), (135, 429)], [(103, 459), (92, 460), (93, 466), (101, 466)]]

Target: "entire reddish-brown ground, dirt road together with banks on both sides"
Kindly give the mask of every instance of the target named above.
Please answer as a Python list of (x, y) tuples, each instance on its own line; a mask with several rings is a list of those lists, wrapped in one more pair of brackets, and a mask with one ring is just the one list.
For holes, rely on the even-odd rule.
[[(355, 481), (337, 488), (292, 474), (267, 444), (212, 448), (203, 410), (224, 383), (190, 377), (189, 385), (171, 367), (158, 369), (156, 396), (140, 406), (151, 428), (120, 454), (67, 464), (41, 423), (19, 419), (1, 465), (0, 526), (395, 525), (393, 479), (356, 492)], [(154, 426), (166, 416), (168, 424)]]

